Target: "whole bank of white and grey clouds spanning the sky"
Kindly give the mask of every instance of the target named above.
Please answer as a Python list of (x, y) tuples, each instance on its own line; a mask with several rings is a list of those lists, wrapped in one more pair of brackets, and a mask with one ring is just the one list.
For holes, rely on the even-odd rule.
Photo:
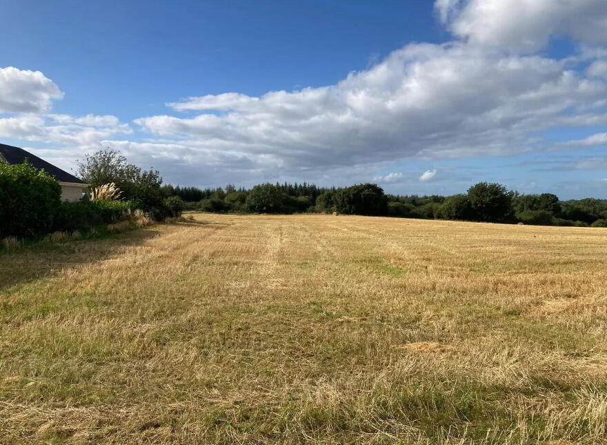
[[(408, 157), (511, 155), (547, 146), (541, 132), (550, 128), (607, 125), (607, 1), (437, 0), (435, 8), (456, 41), (407, 45), (320, 88), (170, 102), (164, 115), (135, 119), (143, 132), (135, 140), (116, 140), (132, 129), (114, 116), (49, 114), (59, 88), (41, 72), (4, 68), (0, 112), (16, 115), (0, 117), (0, 136), (120, 148), (186, 182), (203, 172), (335, 183), (367, 180)], [(575, 57), (541, 55), (562, 35), (580, 45)], [(375, 180), (400, 183), (399, 175)]]

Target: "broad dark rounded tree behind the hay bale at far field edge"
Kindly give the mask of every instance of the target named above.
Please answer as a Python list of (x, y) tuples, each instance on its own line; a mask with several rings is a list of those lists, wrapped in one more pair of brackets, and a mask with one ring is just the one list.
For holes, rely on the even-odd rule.
[(349, 215), (387, 215), (388, 197), (377, 184), (356, 184), (337, 192), (335, 207)]

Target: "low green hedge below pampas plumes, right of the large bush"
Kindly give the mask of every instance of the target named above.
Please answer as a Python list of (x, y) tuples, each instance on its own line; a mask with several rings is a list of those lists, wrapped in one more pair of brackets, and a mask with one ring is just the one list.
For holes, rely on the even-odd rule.
[(88, 229), (102, 224), (115, 224), (123, 221), (136, 208), (132, 201), (95, 201), (62, 202), (57, 208), (54, 219), (54, 231), (73, 231)]

